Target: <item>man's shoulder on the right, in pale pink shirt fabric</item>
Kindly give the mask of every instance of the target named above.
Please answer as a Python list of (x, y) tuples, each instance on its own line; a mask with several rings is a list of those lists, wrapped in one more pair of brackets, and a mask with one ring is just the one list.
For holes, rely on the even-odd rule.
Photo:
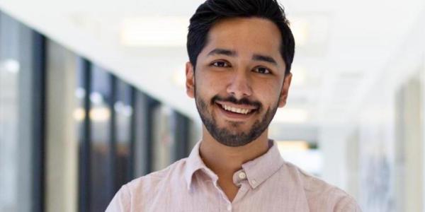
[(308, 174), (292, 163), (285, 162), (285, 165), (288, 172), (297, 175), (300, 180), (310, 207), (323, 208), (323, 211), (361, 211), (353, 196), (344, 190)]

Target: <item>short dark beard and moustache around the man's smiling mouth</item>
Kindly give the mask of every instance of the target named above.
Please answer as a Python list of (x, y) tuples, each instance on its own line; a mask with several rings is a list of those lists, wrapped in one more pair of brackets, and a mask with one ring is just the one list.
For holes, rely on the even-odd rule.
[(268, 125), (270, 124), (271, 120), (276, 114), (276, 111), (278, 110), (278, 102), (280, 98), (278, 102), (276, 102), (274, 107), (268, 107), (263, 117), (261, 117), (261, 119), (256, 120), (248, 131), (239, 132), (232, 131), (231, 129), (235, 129), (237, 128), (237, 126), (243, 124), (240, 122), (230, 122), (230, 124), (232, 125), (232, 127), (230, 128), (218, 126), (216, 117), (208, 111), (208, 107), (213, 107), (214, 105), (216, 105), (216, 100), (220, 100), (223, 102), (232, 102), (234, 104), (239, 105), (254, 105), (257, 108), (256, 111), (254, 111), (255, 114), (261, 114), (261, 112), (263, 111), (263, 106), (261, 102), (251, 102), (246, 98), (237, 100), (233, 96), (230, 96), (229, 98), (221, 98), (220, 96), (215, 95), (213, 98), (211, 98), (209, 102), (210, 105), (207, 105), (207, 102), (197, 95), (195, 89), (196, 108), (198, 109), (200, 119), (202, 120), (203, 124), (205, 125), (205, 128), (208, 130), (211, 136), (219, 143), (222, 143), (225, 146), (244, 146), (257, 139), (261, 134), (263, 134), (263, 131), (268, 128)]

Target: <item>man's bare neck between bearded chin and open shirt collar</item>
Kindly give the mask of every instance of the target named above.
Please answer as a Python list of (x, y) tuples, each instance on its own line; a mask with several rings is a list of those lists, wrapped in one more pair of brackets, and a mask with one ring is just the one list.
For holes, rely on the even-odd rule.
[(203, 162), (219, 179), (232, 180), (234, 172), (242, 168), (242, 164), (254, 160), (268, 151), (268, 130), (259, 138), (244, 146), (225, 146), (215, 140), (205, 126), (199, 153)]

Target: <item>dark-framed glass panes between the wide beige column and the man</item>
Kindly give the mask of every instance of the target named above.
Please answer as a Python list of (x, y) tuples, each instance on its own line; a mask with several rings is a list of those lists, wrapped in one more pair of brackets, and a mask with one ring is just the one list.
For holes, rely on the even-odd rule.
[(86, 59), (77, 78), (79, 210), (104, 211), (126, 182), (188, 155), (189, 121)]

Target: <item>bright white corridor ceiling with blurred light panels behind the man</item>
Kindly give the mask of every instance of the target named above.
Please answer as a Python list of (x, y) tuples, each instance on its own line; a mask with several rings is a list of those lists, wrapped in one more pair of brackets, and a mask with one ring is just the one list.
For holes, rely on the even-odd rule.
[[(198, 120), (182, 81), (188, 19), (201, 2), (0, 0), (0, 8)], [(318, 126), (349, 122), (424, 13), (423, 0), (280, 3), (297, 47), (288, 105), (273, 126), (307, 129), (310, 135), (298, 133), (307, 137)]]

